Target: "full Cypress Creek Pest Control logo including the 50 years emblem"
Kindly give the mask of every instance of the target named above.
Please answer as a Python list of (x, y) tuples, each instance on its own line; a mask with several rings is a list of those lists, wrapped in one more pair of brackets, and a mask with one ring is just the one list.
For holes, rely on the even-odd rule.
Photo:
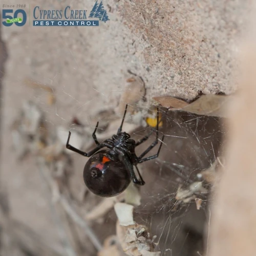
[[(26, 5), (3, 5), (3, 8), (26, 8)], [(30, 7), (30, 6), (29, 6)], [(29, 13), (33, 26), (99, 26), (100, 22), (106, 23), (109, 19), (102, 1), (98, 0), (93, 6), (88, 18), (87, 10), (74, 10), (67, 6), (61, 10), (45, 10), (36, 6)], [(27, 22), (27, 12), (24, 9), (3, 9), (2, 22), (4, 26), (24, 26)], [(30, 20), (30, 19), (29, 19)]]

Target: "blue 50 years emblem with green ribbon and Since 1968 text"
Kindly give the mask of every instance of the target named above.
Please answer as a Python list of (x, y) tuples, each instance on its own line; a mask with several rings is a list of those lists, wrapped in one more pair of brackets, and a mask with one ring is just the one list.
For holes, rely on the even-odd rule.
[[(3, 8), (26, 8), (26, 5), (3, 5)], [(27, 22), (27, 13), (24, 9), (3, 9), (2, 18), (6, 19), (2, 22), (4, 26), (10, 27), (15, 24), (18, 27), (22, 27)]]

